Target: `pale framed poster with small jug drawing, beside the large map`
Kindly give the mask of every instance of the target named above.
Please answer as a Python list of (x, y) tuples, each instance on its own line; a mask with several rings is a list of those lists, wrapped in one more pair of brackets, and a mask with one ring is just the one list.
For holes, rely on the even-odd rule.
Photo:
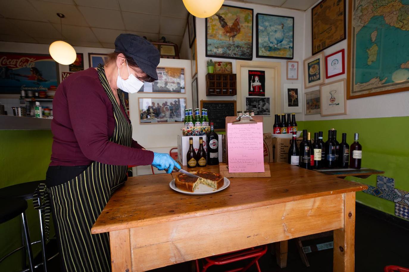
[(346, 114), (346, 80), (341, 79), (320, 86), (321, 116)]

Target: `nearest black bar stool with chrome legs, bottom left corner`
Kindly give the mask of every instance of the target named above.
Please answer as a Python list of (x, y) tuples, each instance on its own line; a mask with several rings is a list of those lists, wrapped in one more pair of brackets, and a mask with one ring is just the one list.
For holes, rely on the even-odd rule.
[[(28, 270), (23, 270), (23, 271), (31, 271), (34, 272), (34, 265), (33, 265), (33, 252), (31, 251), (31, 242), (30, 242), (30, 234), (28, 231), (28, 225), (27, 225), (27, 218), (25, 215), (25, 210), (27, 210), (27, 201), (21, 198), (0, 198), (0, 224), (7, 222), (16, 216), (21, 215), (22, 218), (22, 227), (24, 231), (24, 245), (13, 250), (6, 256), (2, 257), (0, 259), (0, 263), (6, 259), (8, 256), (11, 254), (17, 252), (18, 250), (23, 249), (26, 247), (27, 253), (28, 253), (28, 262), (29, 262), (29, 269)], [(25, 260), (24, 260), (25, 263)]]

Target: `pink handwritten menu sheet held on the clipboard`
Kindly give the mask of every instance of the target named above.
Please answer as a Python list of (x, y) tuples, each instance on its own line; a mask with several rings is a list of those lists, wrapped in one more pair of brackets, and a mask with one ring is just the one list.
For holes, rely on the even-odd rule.
[(264, 172), (263, 123), (227, 123), (229, 173)]

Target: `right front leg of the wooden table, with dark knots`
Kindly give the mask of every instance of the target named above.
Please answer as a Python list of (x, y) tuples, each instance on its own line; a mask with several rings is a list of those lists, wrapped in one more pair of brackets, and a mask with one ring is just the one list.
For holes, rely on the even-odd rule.
[(344, 227), (334, 230), (334, 272), (355, 269), (355, 192), (345, 193)]

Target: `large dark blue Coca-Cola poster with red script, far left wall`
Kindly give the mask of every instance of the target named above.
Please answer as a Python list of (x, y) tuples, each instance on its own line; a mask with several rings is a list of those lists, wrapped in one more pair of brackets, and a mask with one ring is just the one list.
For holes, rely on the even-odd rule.
[(58, 85), (58, 65), (50, 55), (0, 52), (0, 94), (47, 91)]

